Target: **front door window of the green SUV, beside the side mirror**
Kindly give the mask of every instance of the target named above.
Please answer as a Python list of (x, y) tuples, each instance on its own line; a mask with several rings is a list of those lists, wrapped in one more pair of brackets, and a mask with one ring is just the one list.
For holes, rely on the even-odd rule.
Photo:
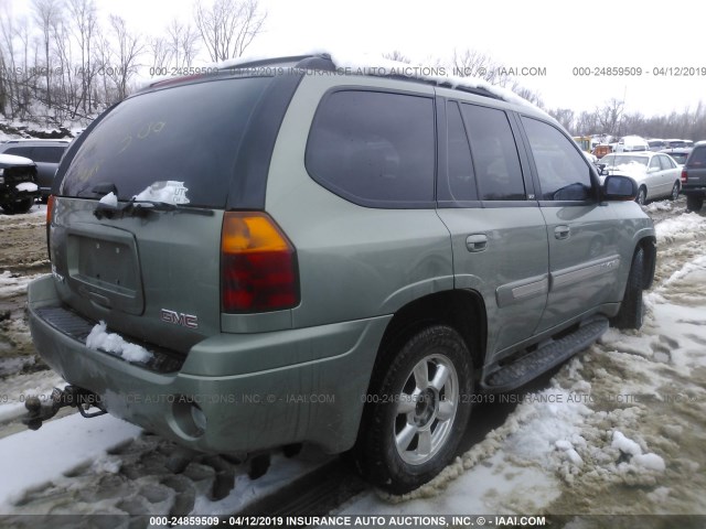
[(522, 118), (537, 168), (543, 201), (587, 201), (591, 175), (586, 158), (561, 132), (532, 118)]

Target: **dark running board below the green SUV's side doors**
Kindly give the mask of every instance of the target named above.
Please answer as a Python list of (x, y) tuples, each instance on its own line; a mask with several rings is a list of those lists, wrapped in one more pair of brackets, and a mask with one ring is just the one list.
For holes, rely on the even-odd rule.
[(608, 331), (608, 320), (605, 317), (592, 320), (574, 333), (555, 339), (491, 373), (481, 382), (481, 388), (492, 393), (518, 388), (586, 349)]

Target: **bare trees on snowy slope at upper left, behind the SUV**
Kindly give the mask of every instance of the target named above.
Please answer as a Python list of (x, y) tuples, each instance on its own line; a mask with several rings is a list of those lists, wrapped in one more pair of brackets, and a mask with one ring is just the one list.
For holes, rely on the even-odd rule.
[[(0, 6), (1, 7), (1, 6)], [(29, 14), (0, 12), (0, 114), (46, 123), (90, 118), (135, 89), (140, 68), (171, 72), (239, 57), (267, 13), (257, 0), (196, 0), (193, 24), (173, 19), (160, 35), (133, 32), (94, 0), (32, 0)]]

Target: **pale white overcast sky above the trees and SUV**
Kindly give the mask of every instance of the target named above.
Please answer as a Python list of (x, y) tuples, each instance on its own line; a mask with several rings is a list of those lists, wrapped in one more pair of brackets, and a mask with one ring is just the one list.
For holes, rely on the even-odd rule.
[[(259, 0), (259, 3), (268, 12), (266, 28), (247, 54), (291, 55), (321, 48), (345, 53), (397, 50), (416, 63), (434, 66), (437, 60), (450, 63), (454, 50), (471, 48), (516, 68), (517, 80), (538, 91), (547, 108), (570, 108), (578, 112), (593, 110), (611, 98), (624, 98), (628, 111), (652, 116), (695, 108), (699, 99), (706, 104), (706, 56), (702, 43), (705, 9), (697, 2), (675, 6), (653, 0), (616, 3)], [(97, 4), (101, 17), (118, 14), (146, 35), (162, 33), (174, 17), (184, 22), (193, 17), (192, 0), (97, 0)], [(15, 6), (17, 9), (22, 8)], [(632, 68), (633, 75), (593, 72), (612, 66)], [(523, 76), (523, 68), (533, 68), (530, 72), (535, 75)], [(641, 73), (635, 68), (641, 68)], [(691, 75), (676, 75), (684, 73)]]

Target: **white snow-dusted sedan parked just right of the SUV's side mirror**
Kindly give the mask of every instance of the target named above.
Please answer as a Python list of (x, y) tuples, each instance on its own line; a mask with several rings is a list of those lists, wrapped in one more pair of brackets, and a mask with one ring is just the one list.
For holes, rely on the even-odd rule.
[(660, 152), (613, 152), (598, 161), (601, 180), (609, 174), (630, 176), (638, 183), (638, 204), (655, 198), (676, 201), (682, 188), (682, 170), (668, 154)]

